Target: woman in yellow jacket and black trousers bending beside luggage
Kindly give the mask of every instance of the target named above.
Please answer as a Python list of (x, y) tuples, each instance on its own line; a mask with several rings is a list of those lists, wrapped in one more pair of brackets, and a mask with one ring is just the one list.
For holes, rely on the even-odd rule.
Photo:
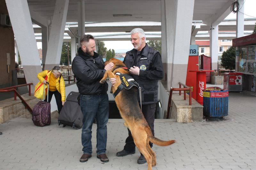
[[(37, 74), (37, 78), (40, 80), (41, 83), (46, 84), (46, 82), (49, 82), (48, 102), (51, 102), (52, 95), (54, 94), (59, 114), (66, 100), (65, 82), (64, 79), (61, 77), (61, 73), (63, 73), (62, 68), (59, 66), (54, 66), (52, 70), (44, 70)], [(47, 81), (45, 80), (46, 75), (48, 76)], [(46, 100), (47, 95), (48, 94), (46, 94), (45, 97)]]

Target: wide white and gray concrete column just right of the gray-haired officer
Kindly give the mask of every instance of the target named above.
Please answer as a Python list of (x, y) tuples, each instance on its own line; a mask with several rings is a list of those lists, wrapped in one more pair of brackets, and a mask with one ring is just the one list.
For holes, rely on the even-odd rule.
[(167, 90), (186, 82), (193, 10), (194, 0), (165, 0)]

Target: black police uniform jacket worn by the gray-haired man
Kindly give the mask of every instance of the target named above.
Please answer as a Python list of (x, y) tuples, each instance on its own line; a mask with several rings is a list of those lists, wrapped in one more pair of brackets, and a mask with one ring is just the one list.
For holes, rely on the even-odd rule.
[(137, 56), (137, 50), (126, 52), (124, 62), (128, 69), (133, 66), (140, 68), (139, 76), (133, 78), (141, 87), (142, 104), (157, 102), (158, 80), (164, 77), (161, 55), (156, 50), (149, 48), (148, 44)]

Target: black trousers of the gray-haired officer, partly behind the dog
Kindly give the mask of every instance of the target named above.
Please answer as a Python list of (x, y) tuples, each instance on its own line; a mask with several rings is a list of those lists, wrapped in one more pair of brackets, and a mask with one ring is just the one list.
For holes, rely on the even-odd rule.
[[(155, 135), (154, 133), (155, 111), (156, 111), (156, 103), (142, 105), (142, 113), (146, 121), (148, 122), (148, 126), (150, 127), (153, 136)], [(151, 142), (149, 142), (149, 145), (152, 148), (153, 144)], [(132, 133), (129, 129), (128, 129), (128, 137), (125, 140), (124, 150), (128, 152), (135, 151), (135, 144), (133, 142)]]

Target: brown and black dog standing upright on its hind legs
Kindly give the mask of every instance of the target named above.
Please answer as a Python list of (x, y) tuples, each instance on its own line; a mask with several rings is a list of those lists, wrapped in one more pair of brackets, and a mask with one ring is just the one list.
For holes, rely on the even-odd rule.
[[(105, 72), (100, 83), (103, 84), (107, 78), (116, 78), (116, 83), (111, 87), (114, 93), (121, 84), (121, 80), (119, 76), (116, 75), (116, 72), (121, 74), (130, 73), (121, 60), (111, 58), (105, 65), (109, 62), (114, 63), (114, 67), (112, 70)], [(163, 141), (152, 135), (148, 123), (141, 112), (137, 99), (137, 90), (138, 88), (135, 86), (129, 90), (124, 88), (116, 95), (115, 101), (120, 115), (124, 119), (124, 126), (130, 129), (135, 145), (147, 160), (148, 170), (151, 170), (152, 166), (156, 166), (156, 154), (150, 148), (149, 141), (159, 146), (168, 146), (175, 143), (175, 140)]]

